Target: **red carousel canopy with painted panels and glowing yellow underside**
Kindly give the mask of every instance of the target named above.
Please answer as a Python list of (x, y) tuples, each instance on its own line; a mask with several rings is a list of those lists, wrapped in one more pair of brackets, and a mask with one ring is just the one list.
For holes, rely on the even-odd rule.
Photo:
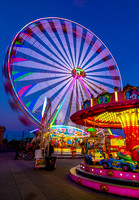
[[(115, 90), (116, 91), (116, 90)], [(139, 111), (139, 87), (127, 86), (123, 91), (103, 93), (93, 99), (93, 106), (77, 111), (71, 120), (87, 127), (122, 128), (119, 114), (132, 114)]]

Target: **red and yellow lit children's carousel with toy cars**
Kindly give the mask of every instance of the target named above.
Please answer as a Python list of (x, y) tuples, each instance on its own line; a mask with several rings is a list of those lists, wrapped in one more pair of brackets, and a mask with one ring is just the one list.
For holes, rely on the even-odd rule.
[(115, 88), (114, 93), (98, 95), (71, 120), (85, 127), (123, 129), (126, 144), (116, 158), (109, 154), (96, 165), (92, 157), (91, 163), (72, 168), (71, 179), (96, 190), (139, 198), (139, 87), (127, 84), (123, 91)]

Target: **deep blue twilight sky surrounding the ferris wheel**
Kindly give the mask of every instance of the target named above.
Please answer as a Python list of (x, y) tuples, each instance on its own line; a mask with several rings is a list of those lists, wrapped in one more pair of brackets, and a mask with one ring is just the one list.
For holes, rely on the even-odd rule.
[[(16, 33), (29, 22), (43, 17), (75, 21), (97, 35), (115, 58), (123, 86), (139, 86), (139, 1), (138, 0), (1, 0), (0, 66), (6, 48)], [(0, 73), (0, 126), (8, 139), (36, 128), (25, 127), (8, 104)]]

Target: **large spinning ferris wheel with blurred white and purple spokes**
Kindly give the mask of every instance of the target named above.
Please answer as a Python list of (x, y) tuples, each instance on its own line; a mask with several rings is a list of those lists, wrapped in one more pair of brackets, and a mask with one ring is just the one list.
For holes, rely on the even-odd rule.
[(122, 89), (107, 47), (90, 30), (63, 18), (41, 18), (23, 27), (5, 63), (14, 101), (38, 126), (46, 97), (51, 99), (52, 124), (72, 125), (70, 116), (91, 95)]

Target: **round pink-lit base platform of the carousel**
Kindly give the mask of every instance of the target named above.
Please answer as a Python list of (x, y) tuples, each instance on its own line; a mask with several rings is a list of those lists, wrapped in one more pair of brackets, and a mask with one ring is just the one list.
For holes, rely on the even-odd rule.
[(95, 190), (120, 196), (139, 198), (139, 170), (124, 172), (103, 169), (100, 165), (84, 162), (71, 168), (70, 178), (76, 183)]

